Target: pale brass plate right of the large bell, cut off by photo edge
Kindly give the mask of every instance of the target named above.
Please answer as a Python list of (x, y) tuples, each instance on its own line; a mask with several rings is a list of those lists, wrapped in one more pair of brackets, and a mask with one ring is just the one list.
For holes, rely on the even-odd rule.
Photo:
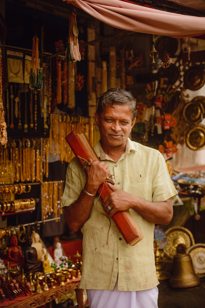
[(205, 277), (205, 244), (197, 243), (187, 250), (190, 254), (195, 273)]

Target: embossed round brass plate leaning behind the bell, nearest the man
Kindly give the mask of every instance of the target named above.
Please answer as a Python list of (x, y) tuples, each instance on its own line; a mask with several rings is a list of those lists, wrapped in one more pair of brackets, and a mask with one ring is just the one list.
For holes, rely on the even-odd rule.
[(169, 228), (166, 231), (167, 234), (167, 245), (163, 249), (164, 253), (173, 259), (174, 255), (176, 254), (176, 247), (179, 244), (184, 244), (188, 249), (191, 245), (194, 245), (194, 237), (192, 233), (181, 226), (175, 226)]

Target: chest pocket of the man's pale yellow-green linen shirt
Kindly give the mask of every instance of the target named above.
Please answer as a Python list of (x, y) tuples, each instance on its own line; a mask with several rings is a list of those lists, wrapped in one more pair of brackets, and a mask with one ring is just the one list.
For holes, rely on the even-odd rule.
[(152, 180), (149, 177), (127, 176), (126, 192), (152, 201)]

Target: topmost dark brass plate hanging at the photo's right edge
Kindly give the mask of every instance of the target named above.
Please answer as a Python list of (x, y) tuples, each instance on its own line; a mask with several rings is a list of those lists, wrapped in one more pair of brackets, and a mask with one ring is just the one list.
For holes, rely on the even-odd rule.
[(184, 74), (184, 88), (191, 91), (199, 90), (205, 83), (204, 69), (200, 66), (190, 67)]

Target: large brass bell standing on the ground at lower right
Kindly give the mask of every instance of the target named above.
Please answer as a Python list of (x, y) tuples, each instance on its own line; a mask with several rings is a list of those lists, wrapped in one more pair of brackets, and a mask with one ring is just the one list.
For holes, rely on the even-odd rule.
[(200, 278), (195, 274), (191, 257), (186, 253), (186, 246), (179, 244), (173, 258), (173, 274), (169, 280), (173, 288), (189, 288), (198, 286)]

